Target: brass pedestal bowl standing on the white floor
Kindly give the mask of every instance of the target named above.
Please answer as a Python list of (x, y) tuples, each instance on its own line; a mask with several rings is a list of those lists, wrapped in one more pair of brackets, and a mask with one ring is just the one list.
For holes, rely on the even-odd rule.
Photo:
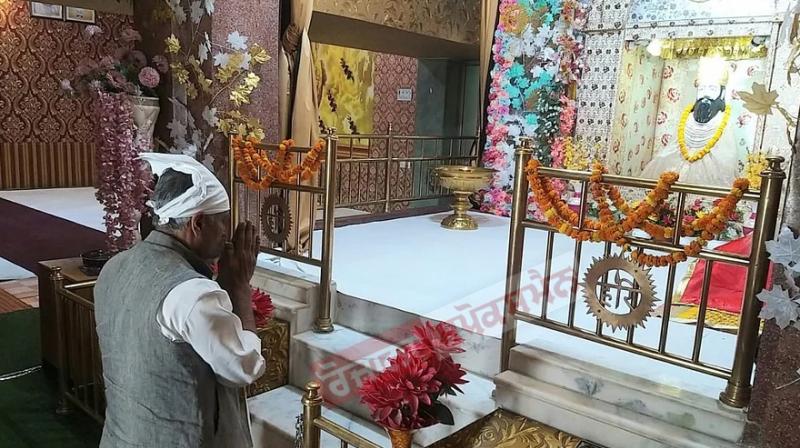
[(451, 230), (475, 230), (478, 223), (467, 214), (472, 208), (469, 196), (489, 186), (496, 170), (464, 165), (443, 165), (435, 169), (439, 185), (452, 190), (453, 214), (442, 220), (442, 227)]

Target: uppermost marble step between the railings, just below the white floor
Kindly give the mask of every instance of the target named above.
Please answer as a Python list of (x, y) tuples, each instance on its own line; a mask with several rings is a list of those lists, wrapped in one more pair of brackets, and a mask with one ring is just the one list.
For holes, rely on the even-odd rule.
[[(337, 324), (395, 345), (404, 345), (410, 341), (411, 330), (415, 325), (439, 322), (341, 292), (337, 294), (336, 307)], [(476, 318), (470, 316), (468, 311), (464, 313), (463, 318), (466, 321), (475, 321)], [(500, 340), (462, 328), (457, 328), (457, 331), (464, 338), (466, 351), (455, 356), (455, 360), (466, 370), (478, 375), (487, 378), (497, 375), (500, 371)]]

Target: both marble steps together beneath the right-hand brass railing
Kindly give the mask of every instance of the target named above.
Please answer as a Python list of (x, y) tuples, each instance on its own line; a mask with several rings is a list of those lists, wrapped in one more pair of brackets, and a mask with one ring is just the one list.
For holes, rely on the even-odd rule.
[[(510, 369), (495, 377), (498, 405), (609, 447), (737, 446), (744, 411), (665, 385), (658, 376), (629, 375), (630, 362), (609, 369), (520, 345), (512, 350)], [(684, 380), (703, 376), (686, 372)]]

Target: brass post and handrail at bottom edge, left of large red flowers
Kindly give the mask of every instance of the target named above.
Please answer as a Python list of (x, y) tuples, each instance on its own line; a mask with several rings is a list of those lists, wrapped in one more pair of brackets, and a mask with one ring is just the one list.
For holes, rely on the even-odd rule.
[(319, 383), (312, 381), (306, 385), (306, 392), (303, 395), (303, 414), (302, 426), (297, 434), (295, 446), (300, 448), (319, 448), (322, 439), (322, 432), (326, 432), (341, 442), (342, 448), (380, 448), (369, 440), (348, 430), (347, 428), (334, 423), (322, 416), (322, 395), (320, 394)]

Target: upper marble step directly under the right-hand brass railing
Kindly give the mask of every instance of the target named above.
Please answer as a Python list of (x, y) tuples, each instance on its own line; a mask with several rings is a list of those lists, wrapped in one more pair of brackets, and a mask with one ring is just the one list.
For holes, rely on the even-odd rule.
[[(738, 442), (744, 432), (744, 411), (725, 406), (714, 397), (666, 386), (543, 348), (514, 347), (509, 367), (532, 380), (729, 442)], [(687, 379), (693, 375), (702, 374), (685, 372)]]

